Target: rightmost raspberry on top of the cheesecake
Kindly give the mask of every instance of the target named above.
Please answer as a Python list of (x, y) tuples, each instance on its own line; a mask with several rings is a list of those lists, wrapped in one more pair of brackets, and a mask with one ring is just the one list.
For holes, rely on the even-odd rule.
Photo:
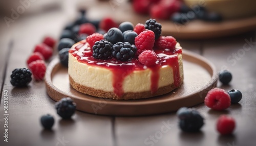
[(176, 39), (172, 36), (160, 36), (160, 38), (156, 40), (155, 47), (160, 49), (169, 48), (170, 50), (173, 50), (176, 43)]

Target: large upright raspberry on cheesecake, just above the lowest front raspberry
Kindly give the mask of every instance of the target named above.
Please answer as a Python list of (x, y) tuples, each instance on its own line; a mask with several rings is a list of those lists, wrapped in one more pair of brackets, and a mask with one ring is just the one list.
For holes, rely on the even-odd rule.
[(139, 56), (145, 50), (152, 50), (155, 43), (155, 34), (153, 31), (143, 31), (135, 37), (137, 47), (136, 55)]

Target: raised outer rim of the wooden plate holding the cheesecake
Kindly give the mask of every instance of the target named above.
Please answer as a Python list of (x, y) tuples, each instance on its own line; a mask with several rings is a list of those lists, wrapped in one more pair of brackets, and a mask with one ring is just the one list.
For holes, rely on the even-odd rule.
[[(209, 62), (206, 58), (186, 50), (183, 50), (183, 58), (192, 58), (194, 63), (203, 66), (211, 75), (211, 80), (198, 92), (193, 92), (184, 97), (170, 99), (164, 102), (159, 100), (152, 100), (151, 102), (147, 102), (148, 99), (136, 100), (138, 102), (134, 100), (118, 101), (102, 98), (93, 98), (92, 100), (90, 98), (85, 99), (78, 96), (70, 95), (66, 92), (61, 91), (52, 83), (52, 77), (55, 72), (58, 71), (60, 67), (63, 67), (59, 63), (58, 58), (53, 59), (47, 67), (47, 74), (45, 76), (46, 89), (48, 95), (54, 101), (59, 101), (62, 98), (69, 96), (78, 105), (77, 110), (91, 114), (111, 116), (141, 116), (173, 112), (180, 108), (178, 104), (180, 102), (183, 102), (182, 106), (186, 107), (192, 107), (203, 103), (204, 97), (207, 92), (210, 89), (216, 87), (217, 85), (217, 70), (214, 64)], [(172, 103), (173, 106), (169, 106), (170, 103)], [(148, 108), (148, 106), (154, 106), (154, 109), (150, 109)]]

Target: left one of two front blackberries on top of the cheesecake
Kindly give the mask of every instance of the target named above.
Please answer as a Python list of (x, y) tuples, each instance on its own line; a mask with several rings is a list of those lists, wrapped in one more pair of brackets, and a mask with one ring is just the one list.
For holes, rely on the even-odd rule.
[(96, 41), (93, 45), (93, 57), (96, 59), (111, 59), (112, 58), (112, 43), (107, 40)]

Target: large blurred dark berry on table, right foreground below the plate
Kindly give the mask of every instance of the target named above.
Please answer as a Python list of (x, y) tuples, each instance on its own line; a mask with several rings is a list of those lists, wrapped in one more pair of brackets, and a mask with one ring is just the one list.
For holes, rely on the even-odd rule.
[(197, 132), (204, 125), (204, 118), (200, 113), (191, 108), (182, 107), (177, 111), (180, 119), (179, 126), (185, 132)]

